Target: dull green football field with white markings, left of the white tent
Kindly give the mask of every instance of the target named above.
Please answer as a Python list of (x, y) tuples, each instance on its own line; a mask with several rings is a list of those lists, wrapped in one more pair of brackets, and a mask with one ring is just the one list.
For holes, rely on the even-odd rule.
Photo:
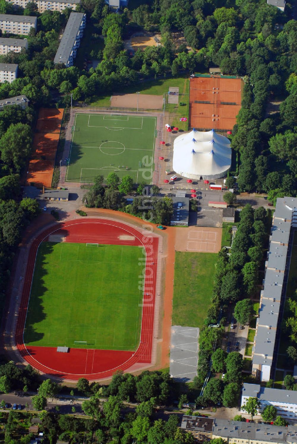
[(156, 135), (155, 117), (76, 114), (66, 180), (91, 183), (115, 171), (151, 183)]

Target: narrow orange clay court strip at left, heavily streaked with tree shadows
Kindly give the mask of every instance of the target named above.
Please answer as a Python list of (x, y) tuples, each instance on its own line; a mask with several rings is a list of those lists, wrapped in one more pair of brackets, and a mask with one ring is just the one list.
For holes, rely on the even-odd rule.
[(41, 108), (39, 111), (27, 185), (34, 183), (37, 187), (51, 187), (63, 112), (63, 109), (55, 108)]

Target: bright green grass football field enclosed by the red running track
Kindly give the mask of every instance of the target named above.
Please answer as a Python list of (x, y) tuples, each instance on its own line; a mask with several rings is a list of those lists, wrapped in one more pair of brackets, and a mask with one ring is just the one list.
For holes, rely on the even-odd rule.
[(42, 242), (25, 345), (135, 350), (143, 298), (139, 254), (137, 246)]

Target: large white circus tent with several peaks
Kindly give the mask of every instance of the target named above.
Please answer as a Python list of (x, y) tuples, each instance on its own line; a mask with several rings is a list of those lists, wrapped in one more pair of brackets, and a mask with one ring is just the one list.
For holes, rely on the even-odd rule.
[(189, 179), (217, 179), (231, 166), (230, 141), (211, 131), (192, 131), (174, 140), (173, 170)]

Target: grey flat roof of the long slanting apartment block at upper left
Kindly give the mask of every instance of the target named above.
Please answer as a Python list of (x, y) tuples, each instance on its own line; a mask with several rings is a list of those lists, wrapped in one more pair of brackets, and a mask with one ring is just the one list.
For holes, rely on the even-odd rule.
[(56, 52), (54, 63), (67, 64), (83, 16), (83, 12), (71, 12), (58, 51)]

